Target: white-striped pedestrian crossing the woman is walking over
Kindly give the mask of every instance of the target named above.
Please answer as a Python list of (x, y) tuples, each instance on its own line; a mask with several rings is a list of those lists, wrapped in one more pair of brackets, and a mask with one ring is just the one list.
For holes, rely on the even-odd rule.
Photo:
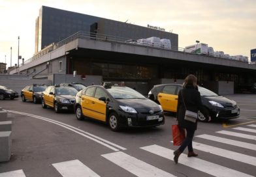
[[(143, 156), (139, 157), (134, 155), (135, 153), (129, 153), (128, 150), (101, 154), (100, 156), (105, 164), (104, 168), (107, 169), (109, 167), (108, 165), (114, 165), (116, 167), (116, 176), (118, 177), (118, 171), (122, 172), (123, 170), (127, 171), (128, 174), (130, 173), (131, 176), (140, 177), (181, 177), (197, 176), (197, 174), (203, 174), (202, 176), (209, 177), (253, 177), (256, 176), (254, 129), (256, 129), (256, 125), (251, 124), (241, 128), (216, 131), (212, 135), (197, 135), (193, 141), (193, 148), (199, 153), (199, 156), (187, 157), (187, 154), (181, 154), (177, 165), (173, 161), (173, 152), (177, 147), (159, 144), (139, 147), (139, 154), (143, 154)], [(215, 159), (218, 161), (216, 162), (214, 158), (208, 158), (206, 156), (216, 157)], [(158, 161), (163, 161), (163, 163), (155, 163), (155, 158)], [(221, 163), (221, 161), (224, 162)], [(168, 163), (170, 168), (166, 168), (163, 165), (164, 163)], [(246, 167), (246, 169), (240, 168), (241, 165)], [(49, 168), (54, 169), (56, 176), (109, 176), (104, 174), (101, 169), (91, 169), (89, 168), (90, 166), (89, 162), (85, 164), (80, 159), (74, 159), (52, 163)], [(182, 169), (182, 172), (178, 172), (179, 169)], [(28, 177), (26, 176), (25, 169), (0, 173), (0, 177), (7, 176)]]

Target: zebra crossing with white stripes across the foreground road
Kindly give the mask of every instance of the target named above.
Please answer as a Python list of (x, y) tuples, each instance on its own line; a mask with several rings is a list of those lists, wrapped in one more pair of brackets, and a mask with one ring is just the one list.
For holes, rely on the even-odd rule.
[[(238, 133), (239, 131), (240, 133)], [(184, 169), (187, 168), (189, 170), (195, 170), (204, 173), (205, 176), (225, 176), (225, 177), (253, 177), (256, 176), (256, 143), (255, 143), (255, 134), (256, 133), (256, 124), (250, 124), (246, 127), (237, 127), (229, 130), (221, 130), (216, 131), (214, 135), (197, 135), (195, 141), (193, 141), (193, 148), (197, 150), (197, 152), (204, 152), (211, 154), (211, 156), (218, 156), (221, 158), (225, 158), (230, 163), (243, 163), (245, 165), (249, 165), (249, 172), (239, 171), (237, 169), (230, 168), (227, 165), (217, 164), (216, 161), (209, 161), (207, 159), (203, 159), (203, 157), (191, 157), (187, 158), (186, 154), (182, 154), (179, 158), (179, 164), (183, 165)], [(239, 141), (234, 140), (234, 137), (238, 137)], [(204, 143), (199, 143), (200, 141), (206, 140)], [(199, 141), (199, 142), (198, 142)], [(213, 145), (207, 144), (208, 142), (214, 142)], [(246, 142), (244, 142), (246, 141)], [(249, 142), (249, 143), (248, 143)], [(221, 148), (218, 144), (222, 144)], [(234, 147), (236, 150), (229, 148), (223, 148), (224, 145), (229, 145), (229, 147)], [(250, 154), (242, 154), (237, 152), (237, 148), (241, 150), (241, 152), (253, 152)], [(152, 144), (149, 146), (142, 146), (139, 148), (144, 153), (149, 156), (158, 156), (165, 161), (170, 161), (170, 164), (174, 165), (173, 168), (176, 168), (173, 161), (173, 152), (171, 146), (164, 147), (159, 146), (157, 144)], [(140, 176), (140, 177), (173, 177), (173, 176), (184, 176), (184, 174), (178, 174), (177, 172), (167, 171), (163, 169), (161, 165), (156, 167), (157, 165), (152, 165), (153, 160), (143, 161), (138, 157), (132, 156), (130, 154), (125, 153), (123, 151), (112, 152), (109, 154), (101, 154), (108, 164), (113, 163), (114, 165), (120, 167), (120, 169), (126, 170), (131, 173), (131, 176)], [(99, 175), (99, 169), (90, 169), (86, 164), (82, 163), (79, 159), (74, 159), (71, 161), (63, 161), (59, 163), (53, 163), (50, 165), (51, 168), (54, 168), (59, 175), (63, 177), (71, 177), (71, 176), (93, 176), (99, 177), (103, 175)], [(178, 166), (177, 166), (178, 167)], [(252, 174), (254, 169), (254, 174)], [(185, 170), (184, 170), (185, 171)], [(186, 174), (189, 176), (189, 174)], [(17, 169), (9, 172), (0, 173), (0, 177), (26, 177), (26, 172), (23, 169)]]

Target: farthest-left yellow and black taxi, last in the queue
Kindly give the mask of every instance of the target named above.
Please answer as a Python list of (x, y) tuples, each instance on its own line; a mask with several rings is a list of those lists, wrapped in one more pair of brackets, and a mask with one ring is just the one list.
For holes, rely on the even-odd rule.
[(42, 101), (42, 92), (46, 89), (46, 87), (46, 85), (39, 84), (26, 86), (20, 92), (22, 102), (26, 102), (27, 100), (29, 100), (33, 101), (33, 103), (40, 103)]

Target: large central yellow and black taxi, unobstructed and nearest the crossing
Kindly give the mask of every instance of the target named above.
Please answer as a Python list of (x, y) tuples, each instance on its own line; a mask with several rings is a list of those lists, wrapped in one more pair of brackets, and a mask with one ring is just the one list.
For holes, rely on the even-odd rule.
[(86, 87), (76, 94), (74, 112), (78, 120), (85, 117), (101, 120), (113, 131), (123, 127), (150, 127), (165, 123), (161, 105), (129, 87)]

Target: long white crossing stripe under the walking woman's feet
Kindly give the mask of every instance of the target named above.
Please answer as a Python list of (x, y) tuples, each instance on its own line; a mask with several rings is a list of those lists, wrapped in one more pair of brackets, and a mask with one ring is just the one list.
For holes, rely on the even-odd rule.
[[(145, 146), (141, 147), (143, 150), (151, 152), (152, 154), (156, 154), (161, 157), (165, 157), (166, 159), (173, 160), (173, 150), (168, 148), (164, 148), (158, 145)], [(229, 169), (227, 167), (223, 167), (221, 165), (217, 165), (216, 163), (211, 163), (209, 161), (205, 161), (199, 159), (197, 157), (188, 158), (187, 155), (181, 154), (178, 160), (178, 163), (185, 165), (187, 167), (191, 167), (193, 169), (200, 170), (202, 172), (206, 172), (207, 174), (211, 174), (212, 176), (221, 176), (221, 177), (252, 177), (249, 174), (239, 172), (237, 170)]]

